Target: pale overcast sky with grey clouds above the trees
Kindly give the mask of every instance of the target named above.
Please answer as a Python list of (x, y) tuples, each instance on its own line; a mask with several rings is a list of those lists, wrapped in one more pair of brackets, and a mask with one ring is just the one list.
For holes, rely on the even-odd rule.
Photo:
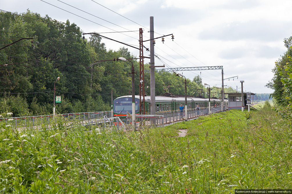
[[(238, 76), (238, 79), (226, 79), (224, 85), (236, 89), (237, 86), (241, 87), (240, 80), (244, 80), (244, 91), (253, 93), (273, 92), (266, 88), (265, 84), (273, 77), (275, 61), (286, 51), (284, 38), (289, 38), (292, 33), (292, 12), (289, 11), (292, 1), (289, 0), (0, 2), (0, 9), (5, 11), (23, 13), (29, 9), (58, 21), (66, 22), (69, 19), (70, 23), (77, 24), (84, 33), (102, 33), (101, 35), (137, 47), (139, 32), (106, 32), (138, 31), (143, 28), (143, 40), (147, 40), (150, 36), (150, 16), (153, 16), (154, 37), (173, 33), (175, 38), (174, 41), (171, 41), (171, 37), (166, 38), (164, 44), (161, 39), (157, 39), (154, 52), (160, 60), (155, 58), (155, 65), (164, 64), (166, 68), (223, 66), (224, 78)], [(86, 35), (86, 38), (89, 38), (89, 35)], [(125, 46), (110, 40), (102, 41), (105, 42), (107, 50), (118, 50)], [(149, 43), (145, 43), (145, 46), (149, 48)], [(128, 49), (132, 54), (139, 56), (138, 50), (131, 47)], [(145, 56), (149, 54), (144, 50)], [(150, 61), (146, 59), (144, 64), (148, 62)], [(203, 83), (211, 86), (222, 85), (221, 70), (179, 73), (191, 80), (200, 75)]]

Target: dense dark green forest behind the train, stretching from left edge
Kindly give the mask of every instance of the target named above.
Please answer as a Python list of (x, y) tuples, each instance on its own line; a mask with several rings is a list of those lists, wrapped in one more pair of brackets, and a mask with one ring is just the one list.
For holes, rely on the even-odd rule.
[[(14, 116), (45, 115), (53, 110), (53, 90), (62, 97), (59, 113), (110, 110), (113, 98), (131, 94), (131, 63), (113, 60), (136, 58), (128, 49), (106, 49), (99, 35), (82, 39), (82, 30), (68, 20), (59, 22), (29, 10), (22, 14), (0, 12), (1, 46), (23, 39), (0, 50), (0, 111)], [(97, 60), (101, 61), (98, 64)], [(139, 63), (132, 60), (135, 72)], [(147, 69), (147, 65), (144, 67)], [(57, 77), (60, 80), (56, 81)], [(155, 73), (156, 95), (184, 95), (183, 79), (173, 72)], [(145, 89), (150, 95), (150, 74), (145, 74)], [(235, 92), (225, 88), (225, 93)], [(211, 97), (220, 97), (221, 89), (211, 88)], [(200, 76), (187, 79), (187, 94), (207, 97)], [(139, 95), (139, 74), (135, 74), (135, 95)]]

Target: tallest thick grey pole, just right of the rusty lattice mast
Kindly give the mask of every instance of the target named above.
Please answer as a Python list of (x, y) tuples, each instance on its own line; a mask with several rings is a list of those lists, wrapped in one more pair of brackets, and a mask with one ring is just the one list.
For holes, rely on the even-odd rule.
[[(150, 39), (154, 39), (154, 21), (150, 17)], [(155, 41), (155, 40), (154, 40)], [(150, 114), (155, 115), (155, 67), (154, 67), (154, 44), (150, 41)]]

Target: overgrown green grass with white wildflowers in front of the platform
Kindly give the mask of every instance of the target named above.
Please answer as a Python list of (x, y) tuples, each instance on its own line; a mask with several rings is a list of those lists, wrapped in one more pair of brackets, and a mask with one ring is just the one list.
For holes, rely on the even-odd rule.
[[(291, 188), (291, 123), (266, 104), (124, 133), (1, 126), (2, 193), (234, 193)], [(188, 129), (177, 137), (178, 129)]]

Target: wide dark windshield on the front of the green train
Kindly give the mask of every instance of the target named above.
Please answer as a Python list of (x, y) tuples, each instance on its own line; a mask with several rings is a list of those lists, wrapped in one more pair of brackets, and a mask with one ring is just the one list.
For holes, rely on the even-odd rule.
[[(118, 98), (114, 100), (114, 113), (132, 114), (132, 98)], [(135, 113), (139, 112), (139, 99), (135, 98)]]

